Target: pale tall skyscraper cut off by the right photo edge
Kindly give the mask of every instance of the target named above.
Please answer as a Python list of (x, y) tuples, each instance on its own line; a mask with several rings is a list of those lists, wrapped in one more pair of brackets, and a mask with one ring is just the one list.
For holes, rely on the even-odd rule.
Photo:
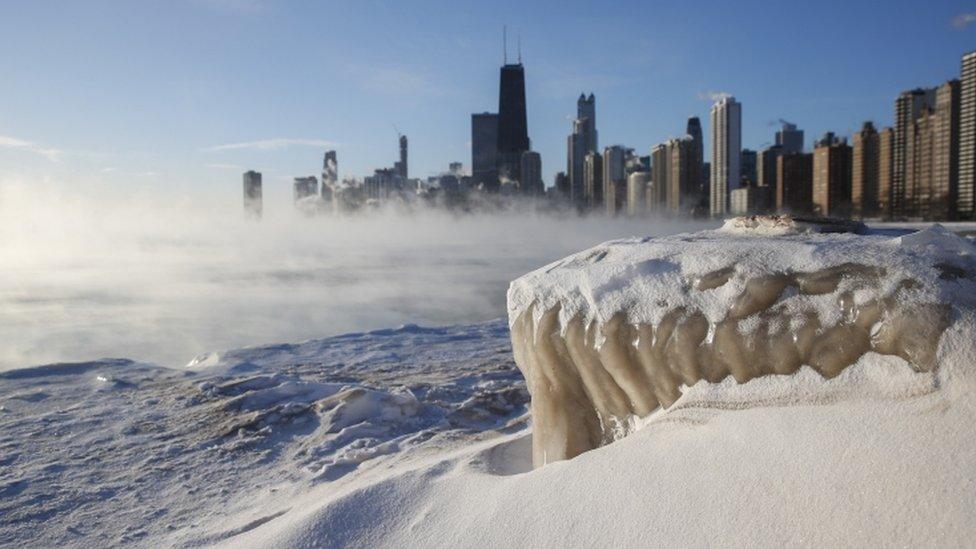
[(976, 219), (976, 51), (962, 57), (959, 79), (959, 184), (956, 219)]

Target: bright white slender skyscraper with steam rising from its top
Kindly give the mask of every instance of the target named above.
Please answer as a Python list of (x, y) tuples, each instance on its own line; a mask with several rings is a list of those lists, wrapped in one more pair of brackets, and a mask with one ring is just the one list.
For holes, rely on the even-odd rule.
[(742, 154), (742, 105), (724, 97), (712, 106), (712, 217), (725, 215), (729, 191), (739, 187)]

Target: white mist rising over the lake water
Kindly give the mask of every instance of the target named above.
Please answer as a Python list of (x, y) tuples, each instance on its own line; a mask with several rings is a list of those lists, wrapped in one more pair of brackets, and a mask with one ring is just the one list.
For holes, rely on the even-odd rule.
[(655, 219), (387, 209), (248, 221), (231, 194), (0, 183), (0, 369), (504, 316), (509, 281)]

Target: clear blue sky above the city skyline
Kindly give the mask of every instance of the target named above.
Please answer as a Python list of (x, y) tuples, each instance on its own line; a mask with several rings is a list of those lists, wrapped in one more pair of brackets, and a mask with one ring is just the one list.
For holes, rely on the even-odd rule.
[[(956, 77), (976, 3), (7, 1), (0, 4), (0, 178), (237, 188), (392, 164), (470, 164), (470, 114), (497, 108), (501, 28), (521, 34), (529, 135), (565, 169), (581, 91), (601, 145), (650, 146), (743, 103), (743, 142), (784, 118), (849, 134), (891, 123), (903, 89)], [(514, 39), (512, 40), (514, 50)]]

